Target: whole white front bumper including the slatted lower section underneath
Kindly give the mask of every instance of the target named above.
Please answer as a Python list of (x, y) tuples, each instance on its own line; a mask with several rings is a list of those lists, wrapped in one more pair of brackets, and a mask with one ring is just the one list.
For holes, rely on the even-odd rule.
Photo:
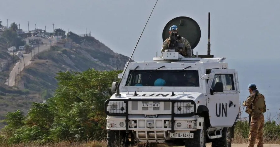
[[(132, 131), (135, 139), (140, 142), (164, 143), (166, 140), (172, 140), (170, 117), (128, 117), (128, 119), (128, 131)], [(125, 117), (107, 117), (106, 128), (107, 130), (126, 130), (125, 121)], [(190, 132), (197, 129), (203, 129), (203, 117), (174, 117), (173, 132)], [(193, 133), (190, 134), (193, 138)]]

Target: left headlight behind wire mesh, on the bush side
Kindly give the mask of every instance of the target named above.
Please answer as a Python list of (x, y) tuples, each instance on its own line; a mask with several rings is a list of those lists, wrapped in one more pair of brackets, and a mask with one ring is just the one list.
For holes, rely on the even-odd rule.
[(126, 103), (122, 101), (110, 101), (107, 105), (107, 111), (109, 113), (124, 114), (126, 112)]

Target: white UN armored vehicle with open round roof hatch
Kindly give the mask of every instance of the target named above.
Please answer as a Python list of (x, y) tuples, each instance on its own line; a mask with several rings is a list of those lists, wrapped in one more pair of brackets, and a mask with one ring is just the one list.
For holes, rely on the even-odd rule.
[[(172, 19), (163, 41), (172, 25), (194, 49), (201, 36), (196, 21)], [(207, 50), (207, 55), (183, 57), (167, 49), (152, 62), (127, 62), (120, 82), (112, 84), (116, 93), (105, 102), (108, 146), (143, 142), (205, 147), (212, 142), (212, 147), (230, 147), (239, 112), (238, 75), (224, 57), (210, 54), (209, 30)]]

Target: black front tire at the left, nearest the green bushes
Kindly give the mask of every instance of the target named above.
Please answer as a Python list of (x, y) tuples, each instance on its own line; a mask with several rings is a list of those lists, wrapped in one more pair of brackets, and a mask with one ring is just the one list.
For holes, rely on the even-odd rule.
[(109, 130), (107, 132), (107, 147), (127, 147), (128, 146), (128, 136), (125, 131), (113, 131)]

